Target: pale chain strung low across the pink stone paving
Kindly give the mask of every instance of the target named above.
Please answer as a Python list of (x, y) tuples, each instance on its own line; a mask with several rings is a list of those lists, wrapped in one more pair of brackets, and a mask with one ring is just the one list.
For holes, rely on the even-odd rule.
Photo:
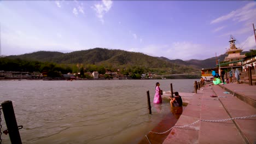
[[(225, 97), (225, 96), (223, 96)], [(224, 122), (224, 121), (230, 121), (232, 119), (246, 119), (246, 118), (249, 118), (249, 117), (256, 117), (256, 115), (251, 115), (251, 116), (245, 116), (245, 117), (234, 117), (234, 118), (228, 118), (228, 119), (219, 119), (219, 120), (207, 120), (207, 119), (199, 119), (197, 121), (195, 121), (194, 123), (190, 123), (190, 124), (187, 124), (187, 125), (182, 125), (182, 126), (173, 126), (171, 127), (170, 129), (162, 132), (162, 133), (157, 133), (157, 132), (154, 132), (154, 131), (149, 131), (149, 133), (154, 133), (154, 134), (165, 134), (167, 133), (168, 131), (170, 131), (171, 129), (173, 128), (185, 128), (185, 127), (189, 127), (190, 125), (194, 125), (198, 122)], [(148, 139), (148, 136), (146, 135), (146, 138)], [(149, 139), (148, 139), (149, 141)], [(150, 141), (149, 141), (150, 143)], [(150, 143), (151, 144), (151, 143)]]

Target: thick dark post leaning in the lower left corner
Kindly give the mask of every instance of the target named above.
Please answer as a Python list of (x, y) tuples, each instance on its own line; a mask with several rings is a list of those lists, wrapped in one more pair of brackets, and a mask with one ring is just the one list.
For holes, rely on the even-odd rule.
[(14, 114), (13, 103), (10, 100), (4, 101), (2, 103), (2, 109), (11, 143), (22, 143)]

